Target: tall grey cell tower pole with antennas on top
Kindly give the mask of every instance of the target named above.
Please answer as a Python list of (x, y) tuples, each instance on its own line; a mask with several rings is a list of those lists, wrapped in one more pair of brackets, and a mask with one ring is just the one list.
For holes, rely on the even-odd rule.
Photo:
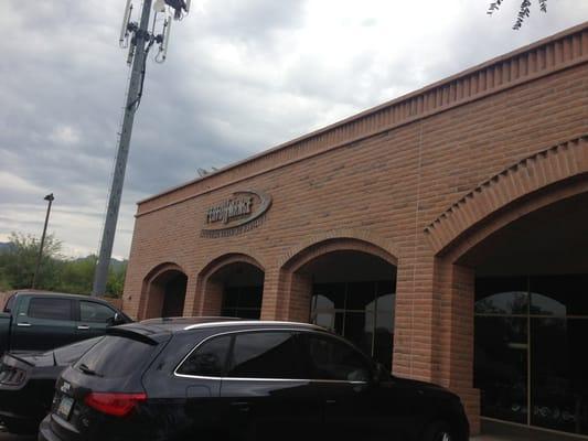
[[(108, 266), (113, 254), (122, 183), (125, 182), (125, 170), (129, 155), (132, 122), (143, 94), (147, 57), (151, 47), (156, 45), (158, 47), (154, 57), (156, 62), (163, 63), (165, 61), (171, 23), (173, 20), (182, 20), (190, 12), (190, 3), (191, 0), (156, 0), (153, 3), (153, 19), (151, 20), (152, 0), (143, 0), (141, 15), (138, 21), (132, 21), (133, 1), (127, 0), (125, 7), (119, 44), (120, 47), (128, 49), (127, 64), (132, 67), (122, 117), (122, 128), (118, 138), (113, 183), (100, 240), (100, 252), (94, 275), (93, 295), (103, 295), (106, 290)], [(159, 28), (158, 32), (156, 32), (156, 28)]]

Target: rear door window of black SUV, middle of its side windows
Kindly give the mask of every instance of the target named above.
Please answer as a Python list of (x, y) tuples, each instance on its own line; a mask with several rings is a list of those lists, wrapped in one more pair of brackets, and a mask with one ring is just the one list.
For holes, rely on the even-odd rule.
[(296, 334), (252, 332), (237, 334), (228, 377), (304, 378), (299, 366)]

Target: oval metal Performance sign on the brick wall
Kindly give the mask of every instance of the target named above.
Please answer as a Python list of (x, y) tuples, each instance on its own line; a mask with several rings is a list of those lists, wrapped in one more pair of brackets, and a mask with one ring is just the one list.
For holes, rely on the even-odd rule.
[(206, 209), (206, 228), (203, 237), (225, 237), (248, 232), (260, 225), (271, 205), (271, 196), (247, 190), (233, 193), (232, 197)]

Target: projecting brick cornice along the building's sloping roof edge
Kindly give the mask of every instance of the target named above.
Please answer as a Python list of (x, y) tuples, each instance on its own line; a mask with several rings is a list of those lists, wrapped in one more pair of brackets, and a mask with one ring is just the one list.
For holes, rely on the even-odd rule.
[[(340, 143), (339, 138), (341, 139), (356, 138), (360, 135), (357, 132), (361, 129), (363, 129), (363, 131), (366, 131), (364, 127), (362, 128), (350, 127), (349, 128), (350, 130), (344, 130), (345, 133), (334, 133), (334, 132), (336, 131), (336, 129), (342, 129), (345, 126), (351, 126), (352, 123), (361, 122), (362, 119), (367, 119), (368, 117), (375, 117), (377, 116), (377, 114), (382, 112), (383, 110), (389, 114), (389, 115), (386, 115), (386, 117), (388, 117), (388, 119), (394, 122), (393, 126), (404, 125), (406, 122), (414, 122), (415, 120), (427, 118), (427, 117), (430, 117), (431, 115), (445, 111), (448, 109), (448, 107), (453, 107), (455, 105), (462, 104), (462, 103), (463, 104), (469, 103), (472, 99), (477, 98), (475, 95), (478, 95), (478, 98), (482, 98), (482, 97), (488, 96), (489, 93), (501, 92), (504, 88), (504, 86), (517, 85), (522, 82), (534, 79), (535, 73), (531, 72), (530, 69), (530, 66), (532, 64), (534, 64), (534, 67), (537, 72), (543, 71), (545, 74), (559, 71), (560, 68), (566, 68), (570, 64), (569, 60), (563, 60), (564, 58), (563, 53), (565, 52), (565, 50), (563, 50), (562, 47), (558, 47), (556, 43), (559, 43), (562, 40), (569, 39), (570, 36), (574, 37), (576, 36), (575, 34), (582, 34), (582, 35), (579, 35), (577, 40), (578, 41), (581, 40), (581, 46), (584, 46), (584, 53), (578, 54), (576, 50), (576, 45), (578, 45), (579, 43), (575, 41), (574, 42), (570, 41), (569, 42), (570, 50), (568, 50), (568, 52), (571, 51), (571, 53), (568, 55), (570, 60), (586, 61), (588, 60), (588, 21), (581, 24), (578, 24), (574, 28), (558, 32), (556, 34), (553, 34), (550, 36), (547, 36), (545, 39), (542, 39), (537, 42), (520, 47), (517, 50), (511, 51), (506, 54), (491, 58), (490, 61), (487, 61), (473, 67), (467, 68), (458, 74), (451, 75), (441, 80), (435, 82), (428, 86), (419, 88), (415, 92), (408, 93), (398, 98), (392, 99), (378, 106), (372, 107), (367, 110), (361, 111), (356, 115), (344, 118), (338, 122), (325, 126), (310, 133), (295, 138), (290, 141), (284, 142), (274, 148), (270, 148), (259, 153), (247, 157), (240, 161), (225, 165), (218, 169), (217, 171), (210, 173), (205, 176), (197, 178), (197, 179), (184, 182), (182, 184), (172, 186), (170, 189), (167, 189), (158, 194), (154, 194), (152, 196), (149, 196), (149, 197), (146, 197), (139, 201), (137, 204), (141, 205), (150, 201), (157, 200), (161, 196), (164, 196), (167, 194), (170, 194), (172, 192), (175, 192), (178, 190), (188, 187), (194, 183), (200, 183), (200, 182), (204, 182), (204, 181), (207, 181), (214, 178), (218, 178), (220, 175), (225, 174), (226, 172), (238, 169), (243, 165), (246, 165), (261, 158), (269, 157), (272, 153), (287, 150), (288, 148), (292, 148), (295, 146), (301, 146), (304, 142), (309, 142), (314, 139), (319, 139), (321, 136), (329, 136), (329, 138), (334, 138), (333, 140), (329, 140), (331, 141), (331, 143), (334, 143), (334, 144)], [(549, 47), (549, 51), (547, 51), (546, 49), (544, 51), (545, 53), (543, 54), (543, 56), (545, 57), (545, 63), (544, 63), (545, 65), (538, 66), (537, 60), (534, 60), (534, 61), (526, 60), (526, 58), (531, 58), (531, 56), (521, 57), (521, 55), (526, 55), (527, 53), (531, 53), (532, 51), (538, 51), (543, 46)], [(549, 52), (549, 55), (547, 55), (547, 52)], [(558, 53), (557, 56), (555, 54), (556, 52)], [(538, 58), (538, 55), (536, 56)], [(549, 58), (549, 62), (547, 62), (548, 56), (553, 57), (553, 60)], [(518, 63), (513, 63), (513, 64), (516, 64), (516, 66), (514, 65), (511, 66), (510, 62), (514, 61), (517, 57), (520, 57)], [(520, 72), (520, 67), (521, 67), (520, 65), (525, 64), (525, 63), (527, 63), (528, 66), (525, 65), (524, 69), (521, 69), (525, 72)], [(504, 66), (507, 66), (506, 68), (509, 68), (509, 72), (506, 72), (506, 68)], [(496, 74), (494, 71), (500, 71), (500, 72)], [(490, 75), (492, 75), (491, 79), (490, 79)], [(495, 83), (494, 76), (496, 76), (496, 82), (499, 83), (498, 86), (494, 84)], [(466, 88), (468, 88), (468, 90), (464, 90)], [(367, 122), (368, 122), (367, 125), (364, 125), (364, 126), (368, 126), (367, 128), (372, 128), (372, 126), (374, 126), (375, 123), (374, 121), (367, 121)], [(371, 122), (374, 122), (374, 123), (371, 123)], [(387, 129), (389, 129), (389, 127)], [(248, 175), (242, 176), (242, 179), (246, 179), (246, 178), (248, 178)], [(223, 186), (223, 185), (220, 185), (220, 186)], [(204, 192), (209, 190), (210, 189), (206, 189), (206, 190), (203, 189)]]

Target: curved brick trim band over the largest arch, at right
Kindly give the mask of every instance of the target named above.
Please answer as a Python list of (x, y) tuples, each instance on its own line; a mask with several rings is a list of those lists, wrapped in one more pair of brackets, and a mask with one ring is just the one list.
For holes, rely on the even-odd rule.
[[(574, 182), (585, 174), (588, 174), (588, 136), (553, 146), (512, 164), (462, 196), (425, 228), (434, 254), (443, 254), (467, 232), (512, 204), (524, 205), (531, 195), (563, 182)], [(516, 207), (516, 215), (523, 214), (521, 209)]]

